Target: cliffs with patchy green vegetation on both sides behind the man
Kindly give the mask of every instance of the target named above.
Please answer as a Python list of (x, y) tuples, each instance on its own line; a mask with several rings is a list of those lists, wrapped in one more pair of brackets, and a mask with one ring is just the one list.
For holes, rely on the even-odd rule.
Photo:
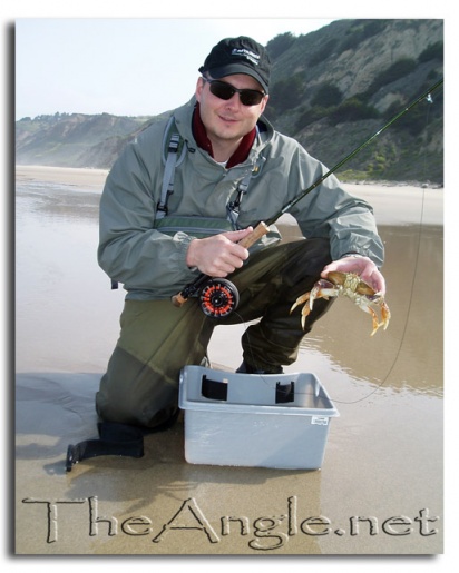
[[(266, 117), (332, 167), (443, 75), (442, 20), (338, 20), (267, 43)], [(343, 180), (443, 181), (443, 92), (422, 101), (338, 175)], [(56, 113), (16, 122), (16, 160), (109, 168), (155, 117)]]

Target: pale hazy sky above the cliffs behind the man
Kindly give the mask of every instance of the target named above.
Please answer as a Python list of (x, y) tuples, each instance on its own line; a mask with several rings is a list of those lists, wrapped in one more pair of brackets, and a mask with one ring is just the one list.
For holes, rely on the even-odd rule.
[(16, 119), (56, 112), (157, 115), (185, 103), (222, 38), (306, 34), (332, 19), (21, 18)]

